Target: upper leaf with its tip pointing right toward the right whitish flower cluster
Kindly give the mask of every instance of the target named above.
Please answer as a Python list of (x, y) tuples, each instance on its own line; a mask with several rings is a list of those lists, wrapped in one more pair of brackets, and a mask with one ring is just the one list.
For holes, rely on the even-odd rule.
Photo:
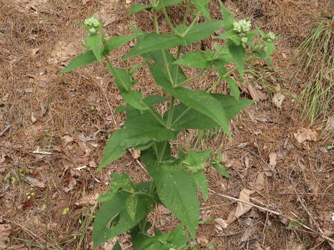
[[(184, 44), (180, 45), (189, 45), (208, 38), (210, 35), (212, 35), (212, 33), (217, 31), (218, 28), (222, 27), (222, 25), (223, 22), (216, 19), (211, 19), (200, 24), (194, 24), (187, 35), (185, 35), (183, 38)], [(176, 26), (176, 30), (178, 30), (180, 33), (183, 33), (187, 28), (188, 26), (183, 26), (182, 24)]]

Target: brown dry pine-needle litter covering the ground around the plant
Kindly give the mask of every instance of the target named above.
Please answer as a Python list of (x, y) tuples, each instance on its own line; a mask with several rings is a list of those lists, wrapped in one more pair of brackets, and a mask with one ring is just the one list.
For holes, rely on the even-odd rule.
[[(213, 15), (218, 17), (219, 8), (215, 3), (210, 4)], [(333, 7), (333, 1), (226, 1), (226, 6), (237, 17), (250, 17), (265, 31), (281, 35), (274, 53), (278, 70), (270, 75), (274, 80), (269, 77), (267, 81), (290, 92), (296, 89), (289, 89), (281, 78), (292, 77), (296, 65), (287, 67), (287, 62), (319, 18), (328, 15), (325, 12), (331, 10), (330, 4)], [(176, 22), (182, 11), (180, 7), (170, 10)], [(58, 71), (83, 50), (79, 42), (85, 34), (77, 24), (85, 17), (97, 13), (106, 18), (110, 22), (106, 33), (112, 36), (130, 33), (128, 24), (153, 31), (151, 14), (141, 12), (128, 17), (123, 2), (97, 0), (0, 0), (0, 13), (0, 133), (10, 125), (0, 136), (0, 205), (1, 217), (16, 223), (12, 224), (14, 238), (10, 238), (9, 246), (24, 244), (25, 249), (36, 249), (30, 243), (15, 240), (19, 238), (51, 249), (90, 249), (91, 228), (82, 226), (82, 222), (89, 217), (93, 206), (82, 198), (94, 197), (106, 190), (108, 172), (125, 171), (134, 176), (135, 182), (147, 179), (147, 175), (132, 162), (130, 154), (103, 171), (94, 172), (108, 133), (124, 121), (122, 114), (115, 115), (116, 124), (112, 119), (112, 111), (122, 104), (122, 99), (103, 65), (92, 65), (65, 75)], [(163, 27), (167, 31), (167, 25)], [(212, 45), (210, 39), (206, 45)], [(200, 47), (201, 44), (194, 44), (187, 50)], [(119, 67), (125, 67), (120, 58), (129, 49), (128, 44), (124, 44), (113, 51), (110, 59)], [(139, 62), (140, 59), (133, 58), (130, 64)], [(187, 75), (193, 73), (186, 70)], [(140, 79), (137, 88), (144, 95), (160, 91), (151, 88), (152, 80), (146, 68), (135, 77)], [(190, 85), (206, 89), (214, 78), (215, 72), (209, 72), (201, 84)], [(258, 85), (265, 88), (261, 82)], [(226, 91), (224, 85), (217, 88), (217, 92)], [(242, 95), (250, 97), (247, 92)], [(307, 122), (301, 124), (295, 106), (292, 99), (287, 99), (281, 110), (276, 109), (270, 99), (259, 101), (231, 123), (233, 140), (221, 133), (198, 138), (194, 136), (196, 131), (190, 131), (180, 136), (174, 148), (179, 142), (194, 146), (195, 141), (201, 149), (221, 148), (232, 177), (222, 178), (208, 168), (209, 185), (210, 189), (233, 197), (237, 197), (242, 188), (250, 188), (249, 183), (268, 163), (269, 153), (277, 153), (276, 174), (268, 177), (265, 190), (258, 192), (257, 199), (262, 206), (289, 216), (294, 213), (310, 224), (308, 215), (297, 203), (300, 196), (322, 228), (334, 231), (329, 218), (334, 211), (328, 206), (333, 203), (334, 156), (333, 150), (323, 150), (334, 142), (328, 138), (306, 144), (296, 142), (293, 133)], [(249, 145), (244, 149), (235, 147), (242, 142)], [(52, 152), (51, 155), (33, 153), (38, 147)], [(83, 166), (86, 167), (80, 171), (70, 171)], [(28, 175), (46, 186), (33, 188), (31, 199), (26, 194), (31, 188), (24, 178)], [(73, 189), (66, 192), (70, 185)], [(202, 203), (201, 211), (226, 219), (235, 205), (235, 202), (210, 195), (208, 202)], [(69, 212), (64, 215), (65, 208), (69, 208)], [(174, 217), (161, 210), (156, 210), (151, 219), (163, 231), (176, 223)], [(3, 222), (6, 221), (3, 219)], [(80, 235), (83, 228), (87, 228), (87, 233)], [(251, 241), (246, 241), (248, 247), (242, 242), (245, 232), (250, 232)], [(251, 249), (254, 242), (271, 249), (286, 249), (289, 240), (311, 247), (315, 240), (310, 233), (287, 230), (287, 224), (280, 218), (255, 209), (222, 232), (215, 231), (212, 223), (202, 225), (199, 239), (216, 244), (218, 249)], [(122, 243), (128, 244), (126, 236), (122, 236)], [(328, 249), (328, 246), (323, 244), (319, 249)]]

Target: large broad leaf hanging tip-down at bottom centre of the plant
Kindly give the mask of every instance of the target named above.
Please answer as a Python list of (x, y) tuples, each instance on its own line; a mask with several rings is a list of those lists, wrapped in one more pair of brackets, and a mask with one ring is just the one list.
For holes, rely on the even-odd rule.
[[(177, 166), (147, 165), (149, 174), (156, 183), (162, 203), (181, 220), (194, 237), (199, 224), (199, 199), (191, 173)], [(168, 170), (167, 170), (168, 169)]]

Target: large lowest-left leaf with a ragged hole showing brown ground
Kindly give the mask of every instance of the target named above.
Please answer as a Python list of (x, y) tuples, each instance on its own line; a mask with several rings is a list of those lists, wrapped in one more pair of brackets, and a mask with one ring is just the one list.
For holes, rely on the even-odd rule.
[(125, 192), (117, 193), (110, 201), (103, 203), (94, 219), (94, 247), (133, 228), (154, 208), (153, 199), (139, 194), (135, 219), (131, 219), (125, 209), (129, 195)]

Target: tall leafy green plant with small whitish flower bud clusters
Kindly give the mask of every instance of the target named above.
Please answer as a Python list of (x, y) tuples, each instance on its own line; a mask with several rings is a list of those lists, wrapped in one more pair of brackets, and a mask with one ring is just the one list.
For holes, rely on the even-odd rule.
[[(155, 32), (152, 33), (144, 33), (133, 27), (133, 35), (106, 40), (103, 33), (99, 33), (101, 22), (96, 17), (86, 19), (82, 26), (90, 32), (85, 39), (87, 50), (61, 71), (70, 72), (106, 60), (106, 67), (127, 103), (116, 110), (116, 113), (126, 113), (126, 122), (123, 128), (110, 135), (99, 169), (124, 156), (126, 149), (135, 148), (142, 151), (140, 160), (151, 175), (151, 181), (135, 184), (125, 173), (111, 174), (110, 190), (98, 199), (103, 204), (94, 219), (95, 247), (121, 233), (129, 232), (133, 249), (196, 249), (189, 242), (194, 239), (199, 226), (197, 188), (203, 194), (203, 199), (208, 199), (208, 184), (203, 169), (208, 163), (224, 176), (228, 177), (229, 174), (219, 163), (219, 151), (215, 157), (210, 150), (196, 152), (188, 149), (187, 153), (179, 151), (178, 158), (174, 158), (170, 142), (176, 140), (178, 133), (185, 129), (220, 127), (231, 137), (228, 120), (253, 101), (240, 98), (235, 80), (229, 78), (229, 75), (237, 71), (242, 78), (244, 58), (249, 53), (270, 63), (269, 56), (274, 51), (272, 42), (276, 39), (272, 33), (267, 35), (260, 28), (251, 31), (251, 22), (236, 22), (222, 3), (223, 20), (211, 19), (207, 0), (186, 1), (183, 23), (174, 27), (167, 6), (179, 2), (151, 0), (151, 6), (133, 6), (131, 14), (144, 9), (153, 12)], [(187, 14), (192, 4), (197, 12), (191, 24), (187, 25)], [(162, 11), (172, 33), (160, 34), (158, 11)], [(206, 18), (206, 22), (198, 23), (201, 15)], [(213, 51), (207, 48), (206, 51), (191, 51), (185, 55), (181, 53), (182, 47), (210, 37), (222, 26), (225, 32), (215, 37), (221, 45), (215, 44)], [(262, 37), (262, 42), (253, 42), (257, 34)], [(108, 53), (133, 38), (136, 38), (137, 43), (123, 60), (142, 56), (144, 65), (149, 67), (158, 86), (170, 98), (160, 95), (142, 97), (141, 92), (134, 90), (137, 80), (133, 78), (133, 73), (142, 65), (125, 70), (110, 62)], [(173, 47), (177, 47), (176, 55), (170, 52)], [(186, 78), (181, 66), (200, 68), (201, 71)], [(184, 87), (212, 67), (217, 71), (217, 81), (208, 91)], [(212, 93), (223, 80), (228, 83), (233, 96)], [(159, 115), (155, 105), (166, 101), (169, 101), (169, 109)], [(169, 233), (161, 233), (158, 228), (153, 228), (154, 235), (149, 235), (147, 231), (152, 225), (147, 221), (147, 216), (157, 203), (171, 210), (181, 223)], [(119, 244), (114, 249), (120, 249)]]

